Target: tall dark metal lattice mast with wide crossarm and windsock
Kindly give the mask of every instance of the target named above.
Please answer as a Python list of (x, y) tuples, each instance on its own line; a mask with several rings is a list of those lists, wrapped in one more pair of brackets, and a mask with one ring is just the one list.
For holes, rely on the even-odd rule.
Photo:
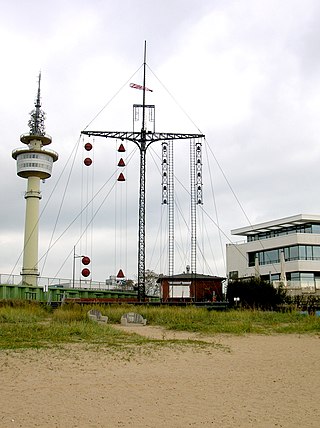
[(139, 189), (139, 231), (138, 231), (138, 299), (145, 300), (145, 214), (146, 214), (146, 152), (150, 144), (155, 141), (181, 140), (181, 139), (196, 139), (204, 137), (203, 134), (180, 134), (180, 133), (157, 133), (147, 131), (145, 127), (146, 110), (152, 116), (154, 122), (154, 105), (147, 105), (145, 102), (146, 90), (146, 42), (144, 46), (144, 63), (143, 63), (143, 86), (134, 85), (143, 91), (142, 105), (135, 104), (134, 112), (137, 114), (137, 109), (142, 108), (142, 127), (139, 132), (126, 131), (82, 131), (82, 134), (89, 136), (99, 136), (105, 138), (115, 138), (120, 140), (128, 140), (134, 142), (140, 151), (140, 189)]

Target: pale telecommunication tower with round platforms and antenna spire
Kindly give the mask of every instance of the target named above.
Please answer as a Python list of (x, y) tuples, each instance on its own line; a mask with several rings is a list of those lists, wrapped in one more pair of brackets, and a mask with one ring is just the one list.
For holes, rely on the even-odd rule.
[(23, 134), (20, 141), (28, 148), (19, 148), (12, 152), (17, 161), (17, 174), (28, 179), (26, 199), (26, 218), (24, 230), (22, 282), (33, 286), (37, 285), (38, 271), (38, 236), (39, 236), (39, 201), (41, 199), (40, 180), (51, 177), (52, 165), (58, 159), (58, 153), (44, 149), (51, 144), (51, 137), (45, 134), (45, 113), (41, 110), (40, 82), (35, 109), (30, 113), (28, 122), (30, 132)]

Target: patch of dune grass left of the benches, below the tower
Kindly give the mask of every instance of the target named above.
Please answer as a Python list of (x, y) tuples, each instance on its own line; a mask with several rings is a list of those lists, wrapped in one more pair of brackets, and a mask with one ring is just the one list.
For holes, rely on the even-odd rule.
[(146, 339), (127, 335), (109, 325), (90, 322), (87, 308), (64, 307), (51, 313), (40, 305), (0, 308), (0, 349), (44, 348), (70, 343), (108, 347), (142, 344)]

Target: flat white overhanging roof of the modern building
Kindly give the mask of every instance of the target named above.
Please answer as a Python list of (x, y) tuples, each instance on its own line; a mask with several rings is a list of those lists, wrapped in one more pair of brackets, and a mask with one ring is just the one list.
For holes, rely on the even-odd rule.
[(297, 226), (299, 224), (318, 223), (320, 224), (320, 215), (318, 214), (297, 214), (291, 217), (284, 217), (277, 220), (267, 221), (265, 223), (252, 224), (239, 229), (231, 230), (232, 235), (255, 235), (260, 232), (269, 232), (282, 229), (283, 227)]

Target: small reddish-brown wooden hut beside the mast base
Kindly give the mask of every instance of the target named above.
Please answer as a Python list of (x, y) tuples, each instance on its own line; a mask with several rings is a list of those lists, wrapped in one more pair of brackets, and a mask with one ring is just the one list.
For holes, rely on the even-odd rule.
[(222, 283), (225, 278), (195, 273), (160, 275), (161, 301), (174, 302), (214, 302), (222, 301)]

